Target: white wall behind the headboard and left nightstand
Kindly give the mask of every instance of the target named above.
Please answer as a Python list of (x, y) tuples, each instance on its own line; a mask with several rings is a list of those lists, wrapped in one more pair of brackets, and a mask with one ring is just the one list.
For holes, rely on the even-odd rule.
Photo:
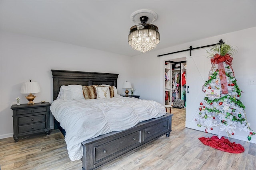
[[(22, 82), (37, 81), (41, 92), (34, 102), (52, 102), (52, 72), (75, 70), (119, 74), (118, 93), (122, 84), (130, 80), (131, 57), (107, 53), (76, 45), (39, 39), (20, 34), (0, 32), (0, 139), (12, 137), (12, 104), (20, 97), (21, 104), (28, 101), (20, 94)], [(53, 127), (51, 119), (51, 127)]]

